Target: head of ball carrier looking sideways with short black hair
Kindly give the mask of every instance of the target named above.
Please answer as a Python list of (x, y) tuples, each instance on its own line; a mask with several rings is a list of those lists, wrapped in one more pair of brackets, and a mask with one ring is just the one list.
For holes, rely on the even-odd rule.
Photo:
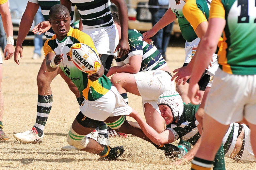
[(49, 23), (52, 25), (56, 37), (66, 37), (70, 30), (70, 13), (64, 5), (54, 5), (49, 12)]

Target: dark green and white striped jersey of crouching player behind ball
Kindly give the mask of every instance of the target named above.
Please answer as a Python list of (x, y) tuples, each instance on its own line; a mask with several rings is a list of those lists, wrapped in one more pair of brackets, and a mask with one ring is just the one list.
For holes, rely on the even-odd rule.
[(128, 30), (128, 41), (130, 51), (128, 54), (116, 59), (118, 66), (128, 64), (129, 58), (134, 55), (142, 55), (142, 62), (139, 71), (161, 70), (167, 66), (163, 56), (156, 47), (142, 41), (142, 34), (140, 34), (136, 29)]

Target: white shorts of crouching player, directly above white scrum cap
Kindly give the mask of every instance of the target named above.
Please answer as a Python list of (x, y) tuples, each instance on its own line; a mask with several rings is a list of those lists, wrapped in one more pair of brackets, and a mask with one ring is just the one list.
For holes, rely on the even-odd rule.
[(159, 96), (168, 90), (175, 90), (171, 76), (164, 70), (152, 70), (133, 74), (136, 80), (139, 94), (142, 98), (143, 109), (145, 103), (149, 103), (159, 113), (157, 100)]

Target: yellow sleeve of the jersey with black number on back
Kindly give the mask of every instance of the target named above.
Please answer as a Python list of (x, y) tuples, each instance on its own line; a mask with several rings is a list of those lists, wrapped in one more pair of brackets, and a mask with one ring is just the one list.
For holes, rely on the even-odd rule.
[(212, 0), (209, 19), (210, 18), (225, 19), (225, 9), (221, 0)]

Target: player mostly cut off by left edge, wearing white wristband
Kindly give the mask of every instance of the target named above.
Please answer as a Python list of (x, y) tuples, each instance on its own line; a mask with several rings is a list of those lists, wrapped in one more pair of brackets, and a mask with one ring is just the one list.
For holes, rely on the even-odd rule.
[[(0, 14), (3, 20), (3, 26), (7, 37), (7, 45), (4, 49), (5, 60), (10, 59), (13, 56), (13, 33), (11, 14), (8, 7), (7, 0), (0, 0)], [(8, 136), (3, 131), (3, 114), (4, 114), (4, 96), (2, 91), (2, 79), (3, 79), (3, 59), (0, 54), (0, 140), (9, 140)]]

